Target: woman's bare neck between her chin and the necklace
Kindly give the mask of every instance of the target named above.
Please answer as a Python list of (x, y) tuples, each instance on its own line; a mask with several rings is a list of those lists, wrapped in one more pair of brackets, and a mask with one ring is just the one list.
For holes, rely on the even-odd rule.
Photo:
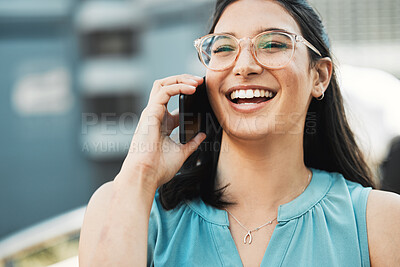
[(276, 212), (308, 185), (310, 171), (304, 165), (302, 134), (249, 141), (224, 132), (221, 145), (217, 187), (230, 184), (225, 197), (236, 203), (235, 210)]

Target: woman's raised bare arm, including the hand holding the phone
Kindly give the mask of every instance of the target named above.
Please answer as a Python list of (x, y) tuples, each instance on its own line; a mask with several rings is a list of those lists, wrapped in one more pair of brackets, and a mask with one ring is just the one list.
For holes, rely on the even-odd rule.
[(185, 145), (173, 142), (166, 134), (178, 126), (179, 117), (167, 112), (167, 104), (173, 95), (193, 94), (202, 82), (191, 75), (154, 82), (120, 173), (89, 202), (79, 243), (80, 266), (146, 266), (156, 188), (173, 178), (205, 138), (198, 134)]

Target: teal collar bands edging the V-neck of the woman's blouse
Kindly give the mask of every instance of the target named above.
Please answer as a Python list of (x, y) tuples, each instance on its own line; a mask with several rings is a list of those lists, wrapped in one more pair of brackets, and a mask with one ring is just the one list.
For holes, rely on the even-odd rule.
[[(276, 225), (261, 266), (281, 266), (287, 248), (296, 230), (298, 220), (294, 220), (314, 207), (329, 191), (332, 180), (329, 173), (311, 168), (312, 179), (308, 187), (294, 200), (278, 208)], [(223, 266), (243, 266), (239, 252), (229, 230), (228, 213), (206, 205), (201, 199), (187, 202), (187, 205), (201, 218), (210, 223), (210, 233), (215, 249)], [(222, 227), (221, 227), (222, 226)]]

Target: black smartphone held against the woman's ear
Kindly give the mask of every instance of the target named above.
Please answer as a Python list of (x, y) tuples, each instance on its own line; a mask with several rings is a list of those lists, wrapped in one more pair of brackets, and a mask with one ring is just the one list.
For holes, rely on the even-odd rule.
[(199, 132), (206, 132), (206, 112), (209, 109), (206, 81), (193, 95), (179, 95), (179, 141), (186, 144)]

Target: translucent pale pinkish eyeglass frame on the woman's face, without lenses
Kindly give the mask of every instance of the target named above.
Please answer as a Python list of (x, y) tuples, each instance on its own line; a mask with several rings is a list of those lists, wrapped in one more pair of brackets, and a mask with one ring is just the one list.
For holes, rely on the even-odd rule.
[[(256, 52), (255, 52), (254, 41), (255, 41), (259, 36), (264, 35), (264, 34), (267, 34), (267, 33), (280, 33), (280, 34), (287, 35), (287, 36), (289, 36), (289, 38), (292, 40), (292, 43), (294, 43), (294, 46), (293, 46), (293, 48), (292, 48), (292, 54), (290, 55), (290, 58), (289, 58), (288, 62), (287, 62), (285, 65), (280, 66), (280, 67), (277, 67), (277, 68), (268, 67), (268, 66), (265, 66), (264, 64), (262, 64), (262, 63), (258, 60), (258, 58), (257, 58), (257, 56), (256, 56)], [(226, 67), (226, 68), (224, 68), (224, 69), (218, 69), (218, 70), (216, 70), (216, 69), (212, 69), (212, 68), (208, 67), (207, 64), (204, 62), (203, 57), (201, 56), (201, 52), (203, 52), (203, 53), (205, 53), (205, 52), (201, 49), (201, 47), (202, 47), (202, 45), (203, 45), (204, 40), (205, 40), (206, 38), (210, 37), (210, 36), (228, 36), (228, 37), (233, 38), (233, 40), (235, 40), (235, 41), (237, 42), (238, 47), (239, 47), (238, 52), (237, 52), (237, 55), (236, 55), (236, 57), (235, 57), (235, 60), (234, 60), (234, 61), (232, 62), (232, 64), (230, 64), (228, 67)], [(236, 64), (236, 61), (237, 61), (237, 59), (239, 58), (239, 55), (240, 55), (241, 49), (242, 49), (242, 46), (240, 45), (240, 42), (243, 41), (243, 40), (245, 40), (245, 39), (250, 39), (250, 37), (244, 37), (244, 38), (238, 39), (238, 38), (236, 38), (235, 36), (233, 36), (233, 35), (231, 35), (231, 34), (228, 34), (228, 33), (210, 33), (210, 34), (204, 35), (203, 37), (200, 37), (200, 38), (197, 38), (196, 40), (194, 40), (193, 45), (194, 45), (194, 47), (195, 47), (196, 50), (197, 50), (197, 56), (199, 57), (201, 63), (203, 63), (203, 65), (204, 65), (207, 69), (212, 70), (212, 71), (225, 71), (225, 70), (231, 68), (232, 66), (234, 66), (234, 65)], [(309, 49), (311, 49), (313, 52), (315, 52), (317, 55), (319, 55), (320, 57), (322, 57), (322, 55), (321, 55), (321, 53), (318, 51), (318, 49), (315, 48), (315, 46), (313, 46), (313, 45), (312, 45), (309, 41), (307, 41), (303, 36), (301, 36), (301, 35), (299, 35), (299, 34), (296, 34), (296, 33), (287, 32), (287, 31), (282, 31), (282, 30), (269, 30), (269, 31), (260, 32), (259, 34), (257, 34), (256, 36), (254, 36), (253, 38), (250, 39), (250, 43), (251, 43), (251, 55), (253, 56), (254, 60), (255, 60), (259, 65), (263, 66), (263, 67), (266, 68), (266, 69), (279, 70), (279, 69), (285, 68), (285, 67), (290, 63), (290, 61), (292, 61), (292, 59), (293, 59), (294, 53), (295, 53), (295, 51), (296, 51), (297, 43), (302, 43), (302, 44), (304, 44), (304, 45), (307, 46)], [(208, 55), (207, 55), (207, 56), (208, 56)]]

